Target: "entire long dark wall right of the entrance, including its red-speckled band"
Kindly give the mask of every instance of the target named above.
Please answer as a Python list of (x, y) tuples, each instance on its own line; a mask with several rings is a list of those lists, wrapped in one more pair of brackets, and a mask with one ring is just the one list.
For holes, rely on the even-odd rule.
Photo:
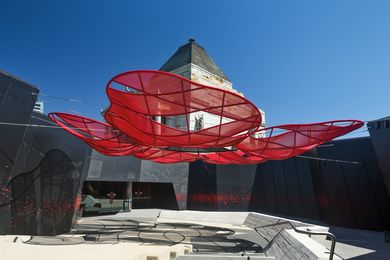
[(257, 168), (191, 163), (188, 208), (250, 210), (388, 229), (390, 200), (370, 138), (330, 142), (305, 156), (313, 159), (269, 161)]

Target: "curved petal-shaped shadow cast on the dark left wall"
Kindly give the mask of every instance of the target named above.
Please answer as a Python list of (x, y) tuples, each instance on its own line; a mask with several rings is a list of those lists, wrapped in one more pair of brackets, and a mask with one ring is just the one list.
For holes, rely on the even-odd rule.
[(75, 209), (81, 173), (60, 150), (51, 150), (31, 171), (9, 180), (10, 200), (0, 207), (11, 211), (8, 234), (56, 235), (68, 232)]

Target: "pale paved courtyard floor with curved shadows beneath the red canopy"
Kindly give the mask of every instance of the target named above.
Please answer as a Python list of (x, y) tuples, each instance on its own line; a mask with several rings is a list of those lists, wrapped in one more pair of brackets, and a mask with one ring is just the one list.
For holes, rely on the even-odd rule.
[[(265, 225), (255, 230), (243, 224), (247, 216), (247, 212), (133, 210), (82, 218), (70, 233), (56, 237), (1, 236), (0, 250), (5, 259), (175, 259), (180, 255), (274, 259), (277, 251), (268, 249), (275, 237), (283, 236), (285, 227)], [(262, 217), (271, 223), (278, 220)], [(389, 259), (390, 245), (384, 243), (382, 232), (337, 227), (330, 231), (338, 238), (334, 259)], [(324, 236), (311, 238), (317, 241), (311, 247), (330, 249)], [(278, 249), (283, 254), (295, 248)], [(320, 258), (328, 256), (325, 252)]]

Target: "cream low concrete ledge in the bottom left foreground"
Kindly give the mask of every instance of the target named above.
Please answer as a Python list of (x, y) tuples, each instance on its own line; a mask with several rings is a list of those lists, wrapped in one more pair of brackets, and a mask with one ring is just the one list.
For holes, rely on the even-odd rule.
[[(132, 260), (170, 260), (190, 254), (191, 245), (150, 246), (137, 243), (67, 244), (61, 237), (34, 237), (44, 241), (42, 245), (26, 243), (30, 236), (0, 236), (1, 259), (41, 260), (41, 259), (132, 259)], [(53, 239), (54, 238), (54, 239)], [(62, 237), (63, 238), (63, 237)], [(68, 237), (66, 237), (68, 239)], [(50, 244), (62, 241), (63, 244)]]

